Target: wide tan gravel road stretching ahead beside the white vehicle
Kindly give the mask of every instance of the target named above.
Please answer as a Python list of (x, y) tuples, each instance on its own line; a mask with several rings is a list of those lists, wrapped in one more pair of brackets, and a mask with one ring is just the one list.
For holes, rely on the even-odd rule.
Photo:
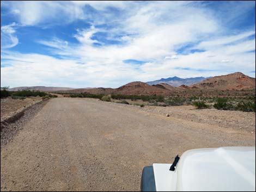
[(89, 98), (53, 98), (1, 149), (1, 191), (136, 190), (146, 165), (255, 134)]

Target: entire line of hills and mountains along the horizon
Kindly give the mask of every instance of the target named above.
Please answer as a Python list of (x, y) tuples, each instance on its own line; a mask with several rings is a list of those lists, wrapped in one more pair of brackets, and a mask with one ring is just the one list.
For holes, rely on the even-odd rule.
[[(167, 83), (162, 83), (167, 82)], [(150, 85), (152, 84), (152, 85)], [(175, 86), (173, 86), (173, 84)], [(241, 72), (231, 73), (223, 76), (210, 78), (196, 77), (182, 79), (172, 77), (167, 79), (155, 80), (153, 82), (131, 82), (112, 88), (60, 88), (53, 86), (20, 86), (11, 88), (10, 91), (19, 90), (40, 90), (57, 91), (63, 93), (80, 94), (113, 94), (113, 95), (170, 95), (172, 92), (186, 92), (188, 90), (255, 90), (255, 78), (244, 75)]]

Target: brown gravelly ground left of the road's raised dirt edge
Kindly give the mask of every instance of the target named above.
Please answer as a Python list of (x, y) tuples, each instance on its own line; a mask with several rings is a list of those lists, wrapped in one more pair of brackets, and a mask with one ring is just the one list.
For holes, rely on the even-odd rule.
[(25, 100), (13, 100), (11, 97), (1, 99), (1, 121), (39, 101), (41, 97), (27, 97)]

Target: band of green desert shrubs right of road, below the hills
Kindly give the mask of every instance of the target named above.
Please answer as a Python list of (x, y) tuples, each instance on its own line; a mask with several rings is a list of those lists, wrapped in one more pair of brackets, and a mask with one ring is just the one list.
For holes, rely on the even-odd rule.
[[(245, 91), (245, 90), (244, 90)], [(251, 91), (251, 90), (250, 90)], [(185, 91), (184, 91), (185, 92)], [(198, 92), (198, 91), (197, 91)], [(210, 91), (213, 93), (212, 91)], [(242, 92), (239, 90), (234, 91), (215, 91), (217, 95), (221, 94), (223, 96), (216, 96), (216, 94), (210, 95), (209, 91), (203, 91), (200, 95), (194, 95), (195, 92), (187, 91), (185, 95), (175, 94), (172, 96), (161, 96), (161, 95), (109, 95), (105, 97), (102, 94), (66, 94), (66, 96), (70, 97), (88, 97), (88, 98), (102, 98), (107, 101), (120, 100), (117, 103), (130, 104), (129, 101), (143, 101), (143, 106), (146, 104), (151, 106), (182, 106), (184, 104), (192, 104), (196, 106), (198, 109), (209, 108), (211, 105), (216, 109), (222, 110), (242, 110), (243, 112), (255, 112), (255, 96), (252, 95), (253, 92)], [(248, 94), (250, 93), (250, 94)], [(192, 95), (192, 96), (191, 96)], [(64, 95), (65, 96), (65, 95)], [(253, 99), (254, 98), (254, 99)], [(102, 100), (103, 101), (103, 100)], [(127, 102), (127, 103), (126, 103)], [(136, 104), (135, 105), (139, 105)]]

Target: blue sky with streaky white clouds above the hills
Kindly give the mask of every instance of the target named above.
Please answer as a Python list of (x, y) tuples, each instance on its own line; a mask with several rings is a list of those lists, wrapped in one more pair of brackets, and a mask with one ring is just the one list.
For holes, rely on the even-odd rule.
[(1, 86), (255, 77), (255, 1), (1, 1)]

